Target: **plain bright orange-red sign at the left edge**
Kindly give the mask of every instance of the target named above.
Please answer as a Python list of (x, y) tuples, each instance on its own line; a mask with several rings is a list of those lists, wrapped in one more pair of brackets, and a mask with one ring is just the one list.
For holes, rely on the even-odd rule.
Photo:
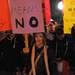
[(0, 31), (11, 29), (8, 0), (0, 0)]

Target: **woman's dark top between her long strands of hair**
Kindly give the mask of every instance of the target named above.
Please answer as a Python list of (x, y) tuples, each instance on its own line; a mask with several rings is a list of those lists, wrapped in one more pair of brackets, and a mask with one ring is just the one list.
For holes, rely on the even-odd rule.
[[(35, 48), (35, 60), (38, 57), (38, 55), (41, 53), (42, 50), (43, 50), (43, 47), (42, 48)], [(44, 63), (43, 52), (41, 53), (40, 59), (39, 59), (37, 66), (36, 66), (36, 75), (47, 75), (45, 63)]]

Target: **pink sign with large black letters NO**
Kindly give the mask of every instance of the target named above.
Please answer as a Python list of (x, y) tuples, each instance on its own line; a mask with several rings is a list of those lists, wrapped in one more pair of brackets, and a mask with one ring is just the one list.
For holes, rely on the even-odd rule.
[(9, 0), (13, 33), (44, 32), (42, 0)]

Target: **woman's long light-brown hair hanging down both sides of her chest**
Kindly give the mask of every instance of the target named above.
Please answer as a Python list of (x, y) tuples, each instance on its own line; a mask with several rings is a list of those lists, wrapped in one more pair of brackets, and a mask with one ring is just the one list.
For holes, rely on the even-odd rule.
[[(35, 38), (35, 34), (34, 34), (34, 38)], [(44, 38), (44, 48), (42, 51), (44, 53), (44, 62), (45, 62), (47, 75), (50, 75), (49, 66), (48, 66), (47, 48), (46, 48), (46, 42), (45, 42), (44, 34), (43, 34), (43, 38)], [(35, 39), (34, 39), (34, 42), (35, 42)], [(39, 55), (39, 57), (40, 57), (40, 55)], [(38, 59), (38, 57), (36, 58), (36, 61), (34, 61), (34, 59), (35, 59), (35, 43), (33, 44), (33, 47), (32, 47), (31, 62), (32, 62), (33, 75), (36, 75), (35, 68), (37, 66), (37, 62), (39, 61), (39, 59)], [(29, 75), (31, 75), (31, 74), (29, 74)]]

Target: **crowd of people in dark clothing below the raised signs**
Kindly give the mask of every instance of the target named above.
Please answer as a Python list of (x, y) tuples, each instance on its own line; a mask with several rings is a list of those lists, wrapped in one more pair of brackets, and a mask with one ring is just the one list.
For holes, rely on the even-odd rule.
[[(66, 61), (69, 74), (75, 75), (75, 25), (71, 34), (64, 34), (63, 25), (51, 21), (45, 32), (28, 34), (28, 51), (25, 36), (1, 32), (0, 75), (62, 75), (57, 62)], [(63, 74), (64, 75), (64, 74)]]

